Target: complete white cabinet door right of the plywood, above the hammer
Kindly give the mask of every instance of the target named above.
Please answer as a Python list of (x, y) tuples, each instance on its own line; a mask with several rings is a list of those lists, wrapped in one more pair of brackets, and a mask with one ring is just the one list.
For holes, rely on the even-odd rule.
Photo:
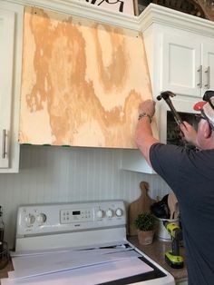
[(188, 37), (163, 34), (161, 47), (160, 91), (200, 97), (200, 43)]

